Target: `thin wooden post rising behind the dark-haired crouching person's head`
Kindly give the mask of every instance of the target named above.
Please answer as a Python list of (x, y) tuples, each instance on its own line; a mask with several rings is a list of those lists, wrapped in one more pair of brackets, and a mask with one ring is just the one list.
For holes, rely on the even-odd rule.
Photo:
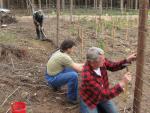
[(57, 41), (56, 41), (56, 45), (58, 47), (59, 44), (59, 18), (60, 18), (60, 0), (57, 0)]

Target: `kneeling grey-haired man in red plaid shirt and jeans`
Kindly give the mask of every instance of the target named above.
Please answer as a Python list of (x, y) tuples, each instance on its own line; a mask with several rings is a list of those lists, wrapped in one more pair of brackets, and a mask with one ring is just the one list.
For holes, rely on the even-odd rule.
[(91, 47), (86, 57), (87, 62), (81, 73), (80, 112), (118, 113), (111, 99), (123, 92), (125, 85), (131, 81), (131, 75), (127, 72), (118, 84), (109, 88), (107, 70), (118, 71), (125, 68), (136, 59), (136, 54), (119, 62), (112, 62), (105, 58), (102, 49)]

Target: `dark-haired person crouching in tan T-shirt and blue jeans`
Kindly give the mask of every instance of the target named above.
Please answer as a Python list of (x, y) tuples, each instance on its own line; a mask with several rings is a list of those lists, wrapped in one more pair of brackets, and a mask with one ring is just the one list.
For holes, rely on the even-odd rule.
[(70, 54), (74, 50), (75, 43), (66, 39), (60, 45), (59, 50), (54, 52), (48, 63), (45, 79), (54, 89), (58, 90), (63, 85), (68, 85), (67, 101), (77, 104), (78, 97), (78, 73), (81, 72), (83, 64), (75, 63)]

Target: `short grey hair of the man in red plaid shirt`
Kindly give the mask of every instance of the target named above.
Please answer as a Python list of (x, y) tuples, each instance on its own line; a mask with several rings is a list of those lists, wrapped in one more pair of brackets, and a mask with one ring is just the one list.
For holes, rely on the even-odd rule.
[(99, 55), (103, 55), (104, 50), (98, 47), (91, 47), (88, 49), (87, 54), (86, 54), (86, 59), (87, 61), (94, 61), (97, 60)]

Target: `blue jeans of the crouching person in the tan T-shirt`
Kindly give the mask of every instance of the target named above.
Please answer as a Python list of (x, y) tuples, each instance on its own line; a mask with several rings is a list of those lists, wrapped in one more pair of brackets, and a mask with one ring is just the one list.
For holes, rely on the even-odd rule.
[(45, 74), (45, 79), (48, 84), (54, 88), (68, 85), (67, 97), (71, 101), (77, 100), (78, 97), (78, 73), (71, 68), (65, 68), (55, 76)]

